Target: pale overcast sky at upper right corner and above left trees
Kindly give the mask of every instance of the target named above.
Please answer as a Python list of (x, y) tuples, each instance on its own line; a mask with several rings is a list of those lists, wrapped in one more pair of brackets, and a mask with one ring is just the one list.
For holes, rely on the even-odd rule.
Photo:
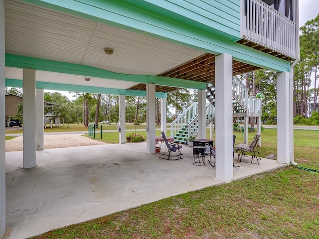
[[(299, 27), (305, 25), (305, 23), (311, 19), (314, 19), (319, 14), (319, 0), (299, 0)], [(47, 91), (45, 92), (55, 92)], [(70, 100), (74, 100), (67, 91), (58, 91), (61, 95), (68, 97)]]

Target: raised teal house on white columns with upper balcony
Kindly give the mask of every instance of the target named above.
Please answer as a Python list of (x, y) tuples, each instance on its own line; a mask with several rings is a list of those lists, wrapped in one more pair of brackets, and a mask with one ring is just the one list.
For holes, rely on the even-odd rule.
[[(43, 113), (35, 104), (43, 101), (43, 89), (119, 95), (120, 143), (126, 140), (125, 96), (146, 96), (146, 152), (151, 154), (156, 152), (156, 98), (161, 131), (166, 132), (167, 92), (198, 90), (197, 135), (206, 137), (209, 84), (218, 129), (214, 176), (230, 182), (233, 111), (247, 124), (248, 112), (259, 104), (234, 84), (233, 76), (261, 68), (277, 72), (277, 160), (294, 163), (298, 0), (0, 0), (0, 16), (0, 89), (23, 87), (29, 103), (24, 105), (23, 123), (29, 130), (23, 133), (28, 139), (23, 168), (35, 167), (36, 148), (43, 145), (43, 133), (36, 130)], [(241, 103), (234, 107), (233, 99)], [(0, 91), (0, 125), (2, 102)], [(4, 144), (1, 138), (1, 148)], [(4, 156), (1, 151), (0, 158)], [(5, 222), (4, 170), (0, 179), (0, 222)], [(2, 223), (0, 237), (4, 230)]]

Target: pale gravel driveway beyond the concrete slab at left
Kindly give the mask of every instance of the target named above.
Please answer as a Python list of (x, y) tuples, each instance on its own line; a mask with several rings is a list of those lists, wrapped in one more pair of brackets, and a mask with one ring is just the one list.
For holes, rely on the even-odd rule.
[[(44, 149), (107, 144), (81, 135), (82, 134), (44, 135)], [(22, 145), (23, 136), (17, 136), (13, 139), (5, 140), (5, 152), (22, 151)]]

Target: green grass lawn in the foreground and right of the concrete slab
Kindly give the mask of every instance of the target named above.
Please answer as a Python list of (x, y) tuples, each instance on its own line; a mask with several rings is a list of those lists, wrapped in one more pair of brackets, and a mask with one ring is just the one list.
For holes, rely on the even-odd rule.
[[(242, 133), (234, 133), (236, 143), (240, 143)], [(111, 135), (117, 134), (105, 136), (111, 140), (115, 138)], [(249, 133), (249, 140), (254, 134)], [(319, 170), (318, 136), (319, 131), (295, 130), (296, 161), (304, 167)], [(276, 129), (263, 130), (262, 156), (277, 152), (276, 137)], [(318, 228), (319, 174), (290, 166), (53, 230), (34, 239), (319, 239)]]

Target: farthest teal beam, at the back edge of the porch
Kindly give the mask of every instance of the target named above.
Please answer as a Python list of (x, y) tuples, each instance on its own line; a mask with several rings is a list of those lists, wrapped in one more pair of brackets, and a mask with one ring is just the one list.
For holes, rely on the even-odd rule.
[[(15, 79), (5, 79), (6, 87), (18, 87), (22, 88), (22, 80)], [(114, 88), (104, 88), (104, 87), (93, 87), (93, 86), (79, 86), (70, 84), (59, 84), (51, 82), (36, 82), (37, 89), (53, 90), (53, 91), (74, 91), (74, 92), (86, 92), (86, 93), (96, 93), (96, 94), (107, 94), (107, 95), (125, 95), (125, 96), (140, 96), (146, 97), (146, 91), (137, 90), (123, 90)], [(167, 93), (156, 92), (156, 98), (167, 98)]]

